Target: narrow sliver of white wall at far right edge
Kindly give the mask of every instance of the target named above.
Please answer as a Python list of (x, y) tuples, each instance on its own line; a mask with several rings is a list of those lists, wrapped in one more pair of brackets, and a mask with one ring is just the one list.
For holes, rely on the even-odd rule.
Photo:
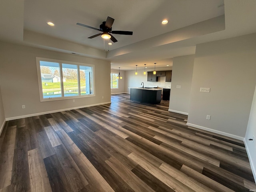
[[(252, 100), (252, 108), (250, 111), (250, 117), (247, 125), (246, 135), (244, 138), (244, 143), (246, 146), (247, 154), (250, 160), (252, 173), (254, 176), (254, 180), (256, 181), (256, 87), (254, 90), (254, 96)], [(253, 141), (249, 141), (249, 139), (253, 138)]]

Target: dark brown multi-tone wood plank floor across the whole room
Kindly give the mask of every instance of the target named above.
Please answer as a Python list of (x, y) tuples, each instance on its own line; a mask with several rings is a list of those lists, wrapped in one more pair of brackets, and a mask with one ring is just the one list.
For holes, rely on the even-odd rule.
[(248, 192), (244, 143), (186, 126), (168, 102), (112, 103), (6, 122), (0, 192)]

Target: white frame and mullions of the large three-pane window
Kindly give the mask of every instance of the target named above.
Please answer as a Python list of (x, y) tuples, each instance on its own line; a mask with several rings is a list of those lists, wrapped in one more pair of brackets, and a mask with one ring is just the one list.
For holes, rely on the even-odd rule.
[[(60, 68), (60, 88), (62, 92), (61, 97), (57, 98), (44, 98), (43, 96), (43, 88), (42, 88), (42, 77), (41, 77), (41, 68), (40, 68), (40, 61), (45, 62), (56, 62), (59, 63)], [(63, 84), (63, 73), (62, 73), (62, 64), (72, 64), (77, 65), (78, 70), (78, 96), (64, 96), (64, 84)], [(80, 66), (88, 66), (92, 67), (92, 75), (93, 75), (93, 84), (92, 84), (92, 90), (93, 94), (87, 94), (87, 95), (81, 95), (80, 92)], [(56, 101), (56, 100), (67, 100), (67, 99), (75, 99), (75, 98), (86, 98), (86, 97), (95, 97), (96, 90), (95, 90), (95, 66), (93, 64), (85, 64), (85, 63), (79, 63), (79, 62), (71, 62), (71, 61), (64, 61), (64, 60), (56, 60), (56, 59), (50, 59), (50, 58), (42, 58), (42, 57), (36, 57), (36, 68), (37, 68), (37, 77), (38, 77), (38, 88), (39, 88), (39, 95), (40, 95), (40, 102), (46, 102), (46, 101)]]

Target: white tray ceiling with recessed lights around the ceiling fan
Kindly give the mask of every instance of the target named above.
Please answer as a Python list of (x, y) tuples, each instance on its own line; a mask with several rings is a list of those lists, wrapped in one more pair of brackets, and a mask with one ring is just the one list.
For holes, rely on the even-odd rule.
[[(172, 66), (172, 58), (195, 53), (198, 43), (256, 32), (256, 0), (0, 0), (0, 39), (109, 60), (111, 68), (134, 70)], [(115, 19), (111, 46), (98, 31)], [(168, 19), (168, 24), (161, 24)], [(54, 27), (46, 22), (53, 22)], [(109, 49), (109, 51), (108, 51)]]

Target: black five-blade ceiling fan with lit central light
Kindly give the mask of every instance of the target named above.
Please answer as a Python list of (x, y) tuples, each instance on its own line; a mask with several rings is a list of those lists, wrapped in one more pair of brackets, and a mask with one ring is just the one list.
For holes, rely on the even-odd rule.
[(77, 23), (77, 25), (103, 32), (103, 33), (99, 33), (99, 34), (90, 36), (90, 37), (88, 37), (89, 39), (92, 39), (94, 37), (101, 35), (101, 37), (104, 39), (110, 39), (110, 40), (112, 40), (112, 42), (117, 42), (116, 38), (114, 38), (114, 36), (112, 36), (110, 33), (120, 34), (120, 35), (132, 35), (132, 31), (112, 31), (113, 23), (114, 23), (114, 19), (111, 17), (108, 17), (106, 21), (102, 22), (102, 24), (100, 25), (100, 29), (97, 29), (97, 28), (94, 28), (94, 27), (91, 27), (88, 25), (84, 25), (81, 23)]

